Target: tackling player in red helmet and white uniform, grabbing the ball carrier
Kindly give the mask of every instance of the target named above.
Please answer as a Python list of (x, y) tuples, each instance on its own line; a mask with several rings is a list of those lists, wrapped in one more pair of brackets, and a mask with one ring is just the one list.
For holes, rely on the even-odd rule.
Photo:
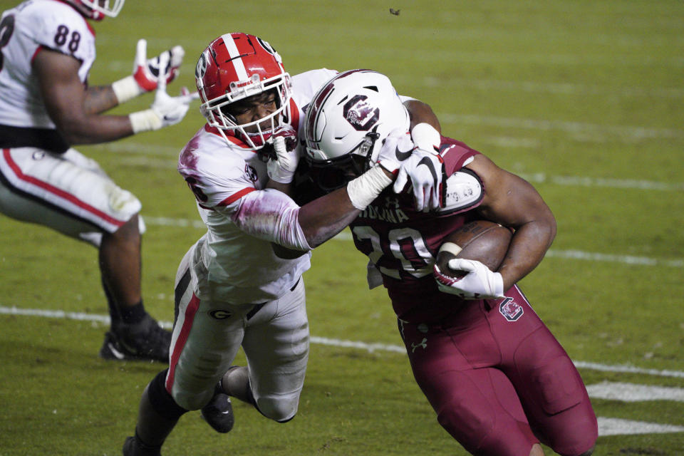
[[(207, 124), (180, 152), (178, 170), (207, 233), (180, 262), (170, 367), (145, 388), (124, 455), (159, 455), (189, 410), (201, 409), (209, 425), (228, 432), (229, 396), (278, 423), (294, 418), (309, 356), (301, 275), (310, 251), (346, 227), (399, 172), (394, 147), (371, 135), (358, 147), (375, 166), (361, 177), (301, 207), (288, 196), (305, 110), (336, 74), (320, 69), (291, 77), (269, 43), (246, 33), (220, 36), (199, 57), (195, 76)], [(419, 120), (439, 127), (429, 106), (403, 100), (396, 95), (394, 105), (383, 107), (393, 113), (388, 120), (406, 129)], [(352, 103), (359, 123), (377, 122), (363, 100)], [(378, 126), (377, 137), (386, 136)], [(430, 192), (432, 175), (420, 182), (408, 172)], [(233, 366), (241, 346), (247, 366)]]

